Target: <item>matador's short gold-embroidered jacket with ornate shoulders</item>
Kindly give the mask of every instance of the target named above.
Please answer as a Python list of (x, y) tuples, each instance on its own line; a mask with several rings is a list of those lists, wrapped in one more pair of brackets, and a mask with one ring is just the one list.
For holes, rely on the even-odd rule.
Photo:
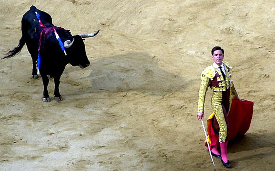
[(225, 67), (226, 73), (225, 80), (222, 77), (221, 71), (216, 69), (213, 65), (206, 67), (205, 70), (202, 71), (202, 82), (199, 90), (198, 112), (204, 112), (205, 95), (209, 86), (213, 90), (213, 92), (222, 92), (226, 89), (231, 89), (230, 98), (238, 97), (238, 93), (234, 87), (230, 72), (230, 69), (232, 69), (232, 67), (227, 62), (223, 62), (223, 65)]

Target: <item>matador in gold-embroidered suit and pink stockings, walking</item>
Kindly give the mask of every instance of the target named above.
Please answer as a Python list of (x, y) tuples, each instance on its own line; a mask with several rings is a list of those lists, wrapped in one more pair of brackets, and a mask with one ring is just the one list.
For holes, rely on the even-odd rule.
[(223, 62), (224, 50), (216, 46), (212, 48), (211, 54), (214, 63), (206, 67), (201, 74), (202, 81), (199, 90), (197, 118), (202, 120), (204, 117), (205, 95), (208, 87), (210, 87), (213, 91), (212, 109), (215, 114), (212, 127), (218, 134), (221, 147), (221, 154), (217, 149), (218, 144), (212, 147), (211, 153), (221, 159), (225, 167), (231, 167), (227, 157), (227, 135), (229, 129), (227, 115), (231, 107), (231, 98), (238, 98), (238, 93), (231, 76), (232, 67), (227, 62)]

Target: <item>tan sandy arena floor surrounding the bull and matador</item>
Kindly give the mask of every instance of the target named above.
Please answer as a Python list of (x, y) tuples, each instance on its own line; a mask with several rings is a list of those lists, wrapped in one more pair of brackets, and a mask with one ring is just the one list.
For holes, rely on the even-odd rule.
[(274, 1), (0, 0), (1, 58), (31, 5), (73, 34), (101, 32), (85, 40), (89, 67), (66, 66), (62, 102), (42, 101), (26, 46), (0, 61), (1, 171), (228, 170), (216, 158), (213, 167), (196, 120), (216, 45), (240, 97), (254, 101), (250, 129), (229, 143), (230, 170), (274, 169)]

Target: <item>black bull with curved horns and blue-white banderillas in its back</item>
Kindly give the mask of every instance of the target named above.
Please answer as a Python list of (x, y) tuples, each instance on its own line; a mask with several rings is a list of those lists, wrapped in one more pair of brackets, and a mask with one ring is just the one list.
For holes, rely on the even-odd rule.
[[(41, 23), (37, 19), (36, 13), (40, 15)], [(73, 66), (79, 66), (80, 68), (85, 68), (90, 65), (82, 38), (93, 37), (99, 30), (92, 34), (72, 36), (70, 30), (54, 26), (51, 16), (44, 11), (38, 10), (35, 6), (31, 6), (30, 10), (23, 15), (21, 30), (22, 37), (18, 46), (10, 50), (4, 58), (10, 58), (16, 55), (26, 43), (33, 63), (32, 75), (38, 78), (36, 62), (38, 60), (38, 48), (40, 47), (40, 60), (38, 61), (40, 61), (39, 72), (44, 85), (43, 101), (50, 101), (47, 89), (49, 78), (47, 75), (54, 78), (54, 99), (56, 101), (62, 101), (59, 84), (60, 77), (66, 65), (71, 64)], [(64, 46), (59, 44), (54, 30), (56, 30)], [(65, 52), (61, 46), (65, 47)]]

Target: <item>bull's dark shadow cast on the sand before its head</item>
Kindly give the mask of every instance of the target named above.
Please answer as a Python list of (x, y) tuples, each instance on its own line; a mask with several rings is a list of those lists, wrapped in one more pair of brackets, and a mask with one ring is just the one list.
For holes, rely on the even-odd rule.
[(127, 53), (91, 61), (88, 92), (137, 91), (165, 95), (182, 88), (183, 78), (159, 67), (159, 59), (146, 52)]

